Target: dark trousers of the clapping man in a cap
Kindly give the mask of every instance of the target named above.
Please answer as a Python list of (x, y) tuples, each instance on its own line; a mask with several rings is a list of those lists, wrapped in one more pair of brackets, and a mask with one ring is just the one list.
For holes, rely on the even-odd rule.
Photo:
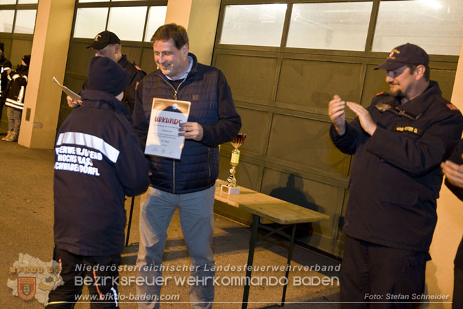
[(342, 308), (417, 308), (425, 290), (425, 252), (347, 236), (341, 265)]

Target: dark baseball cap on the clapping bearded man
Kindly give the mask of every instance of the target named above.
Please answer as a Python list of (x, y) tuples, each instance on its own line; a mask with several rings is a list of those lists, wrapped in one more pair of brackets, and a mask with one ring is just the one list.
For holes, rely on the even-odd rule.
[(430, 56), (424, 49), (414, 44), (404, 44), (395, 47), (384, 63), (377, 65), (375, 70), (383, 69), (391, 71), (403, 67), (404, 65), (427, 65), (430, 62)]

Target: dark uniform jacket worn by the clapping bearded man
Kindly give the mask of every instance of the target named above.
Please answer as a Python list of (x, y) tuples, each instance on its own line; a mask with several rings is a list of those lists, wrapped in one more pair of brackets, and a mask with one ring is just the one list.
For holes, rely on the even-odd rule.
[(344, 230), (375, 244), (427, 252), (437, 222), (439, 164), (462, 136), (462, 114), (441, 97), (435, 81), (401, 105), (377, 95), (368, 111), (377, 124), (372, 136), (358, 118), (343, 136), (330, 130), (339, 150), (355, 154)]

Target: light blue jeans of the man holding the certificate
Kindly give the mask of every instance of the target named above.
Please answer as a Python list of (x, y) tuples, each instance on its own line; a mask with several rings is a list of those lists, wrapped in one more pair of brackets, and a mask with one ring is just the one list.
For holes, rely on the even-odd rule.
[[(194, 270), (191, 276), (209, 278), (205, 284), (191, 285), (189, 299), (191, 308), (212, 308), (214, 301), (213, 278), (215, 271), (212, 255), (212, 237), (214, 236), (214, 192), (215, 187), (186, 194), (171, 194), (150, 187), (141, 196), (140, 202), (140, 246), (136, 259), (139, 276), (152, 283), (153, 278), (162, 276), (162, 254), (167, 240), (167, 228), (175, 209), (178, 208), (185, 244)], [(152, 269), (154, 267), (154, 269)], [(137, 285), (139, 295), (157, 295), (161, 285)], [(151, 296), (152, 297), (152, 296)], [(139, 303), (140, 309), (159, 308), (159, 301)]]

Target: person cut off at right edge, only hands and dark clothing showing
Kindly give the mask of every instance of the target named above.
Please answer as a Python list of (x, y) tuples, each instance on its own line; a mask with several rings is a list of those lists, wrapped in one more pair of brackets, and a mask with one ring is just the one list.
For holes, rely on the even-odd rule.
[[(450, 157), (441, 163), (446, 176), (445, 184), (457, 198), (463, 200), (463, 140), (457, 144)], [(452, 308), (463, 308), (463, 239), (455, 255)]]

